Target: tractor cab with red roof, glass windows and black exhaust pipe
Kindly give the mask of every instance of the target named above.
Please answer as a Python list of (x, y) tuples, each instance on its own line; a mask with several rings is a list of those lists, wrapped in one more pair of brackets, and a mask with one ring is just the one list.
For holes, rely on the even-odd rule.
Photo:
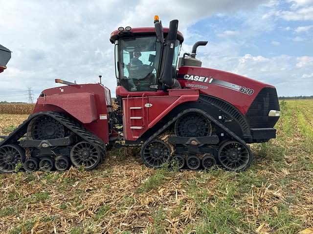
[(170, 28), (163, 29), (158, 19), (155, 25), (155, 28), (119, 27), (112, 32), (117, 95), (121, 90), (125, 95), (136, 96), (135, 93), (180, 88), (179, 82), (174, 81), (183, 42), (177, 31), (178, 20), (172, 20)]

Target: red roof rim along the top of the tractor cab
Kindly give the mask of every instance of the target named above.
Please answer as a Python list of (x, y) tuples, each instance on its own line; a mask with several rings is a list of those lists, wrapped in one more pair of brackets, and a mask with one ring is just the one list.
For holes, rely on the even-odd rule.
[[(127, 31), (123, 31), (123, 32), (127, 32)], [(154, 27), (132, 28), (131, 32), (133, 34), (137, 34), (136, 36), (139, 36), (140, 34), (142, 36), (156, 35), (156, 29)], [(168, 34), (168, 28), (163, 28), (163, 33), (165, 34), (164, 36), (166, 37), (166, 35)], [(121, 35), (120, 31), (118, 30), (113, 31), (110, 36), (110, 41), (114, 43), (114, 40), (119, 38), (120, 35)], [(180, 43), (182, 43), (184, 40), (184, 36), (179, 31), (177, 32), (177, 39), (179, 39)]]

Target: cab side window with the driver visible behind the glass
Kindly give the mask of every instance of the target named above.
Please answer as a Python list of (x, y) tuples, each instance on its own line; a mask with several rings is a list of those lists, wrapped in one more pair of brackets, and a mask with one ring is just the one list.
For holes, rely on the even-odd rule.
[[(161, 57), (156, 37), (120, 39), (115, 61), (120, 84), (128, 91), (153, 90)], [(118, 57), (117, 57), (118, 56)]]

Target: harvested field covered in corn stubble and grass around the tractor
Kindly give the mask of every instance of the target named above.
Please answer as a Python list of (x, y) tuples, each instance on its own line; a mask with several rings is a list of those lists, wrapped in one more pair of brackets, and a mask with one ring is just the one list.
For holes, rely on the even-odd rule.
[[(0, 175), (0, 233), (313, 233), (313, 101), (281, 108), (242, 173), (149, 169), (128, 148), (91, 172)], [(0, 114), (0, 135), (26, 117)]]

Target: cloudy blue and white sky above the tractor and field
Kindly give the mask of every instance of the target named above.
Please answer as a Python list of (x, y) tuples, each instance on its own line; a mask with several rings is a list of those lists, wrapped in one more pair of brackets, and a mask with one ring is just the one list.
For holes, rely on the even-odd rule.
[(274, 85), (279, 96), (313, 95), (313, 0), (0, 0), (0, 44), (12, 59), (0, 74), (0, 101), (35, 99), (55, 78), (102, 82), (115, 97), (119, 26), (179, 20), (181, 55), (198, 40), (202, 67)]

